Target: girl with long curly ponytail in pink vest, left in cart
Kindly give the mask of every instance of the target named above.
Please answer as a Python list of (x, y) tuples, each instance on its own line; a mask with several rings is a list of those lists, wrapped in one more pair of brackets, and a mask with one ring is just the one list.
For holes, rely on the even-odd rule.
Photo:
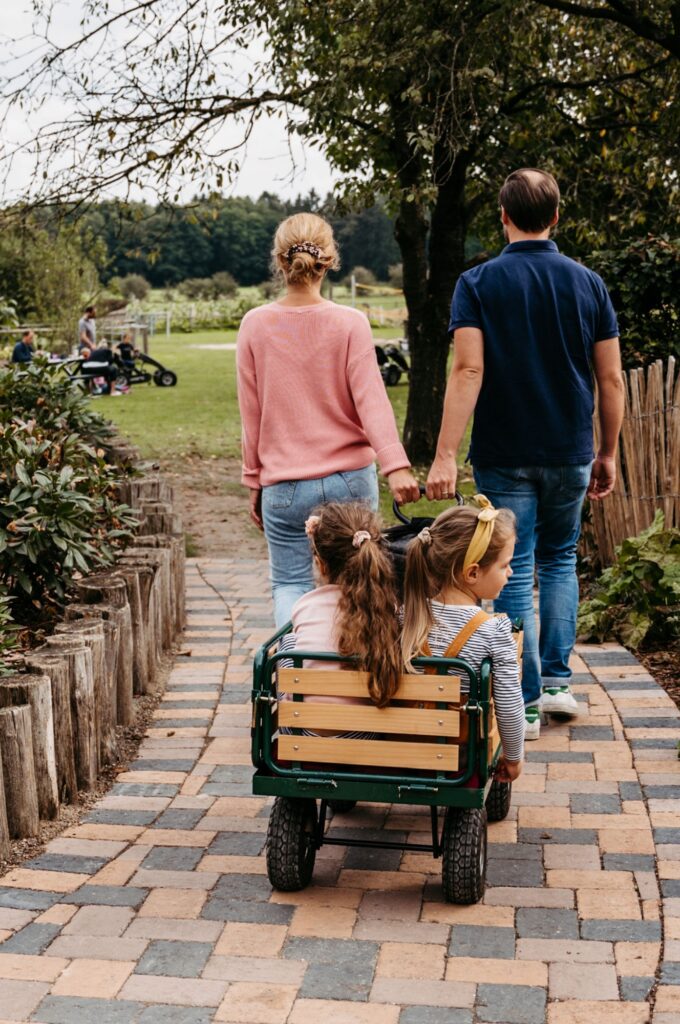
[[(394, 573), (380, 520), (366, 505), (334, 502), (310, 516), (305, 529), (322, 585), (295, 603), (293, 632), (284, 638), (281, 650), (297, 647), (356, 654), (356, 668), (370, 674), (366, 699), (305, 699), (315, 703), (371, 701), (384, 708), (396, 691), (402, 664)], [(304, 668), (335, 666), (310, 658)]]

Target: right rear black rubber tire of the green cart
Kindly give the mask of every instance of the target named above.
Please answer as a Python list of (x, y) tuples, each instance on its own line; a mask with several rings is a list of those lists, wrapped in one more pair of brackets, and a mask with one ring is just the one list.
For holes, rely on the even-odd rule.
[(478, 903), (486, 886), (486, 808), (450, 807), (441, 837), (441, 885), (448, 903)]

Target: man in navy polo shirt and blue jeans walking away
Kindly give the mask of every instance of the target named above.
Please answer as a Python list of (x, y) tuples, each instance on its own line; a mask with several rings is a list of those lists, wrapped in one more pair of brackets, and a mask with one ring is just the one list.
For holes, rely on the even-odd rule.
[[(500, 200), (509, 245), (461, 274), (454, 293), (454, 364), (427, 496), (454, 495), (456, 453), (474, 411), (470, 458), (477, 488), (517, 517), (513, 575), (496, 608), (524, 622), (526, 738), (537, 739), (541, 709), (578, 715), (568, 662), (581, 509), (586, 494), (599, 501), (613, 488), (624, 391), (606, 288), (550, 241), (559, 216), (557, 182), (522, 168), (506, 179)], [(593, 374), (601, 434), (594, 461)]]

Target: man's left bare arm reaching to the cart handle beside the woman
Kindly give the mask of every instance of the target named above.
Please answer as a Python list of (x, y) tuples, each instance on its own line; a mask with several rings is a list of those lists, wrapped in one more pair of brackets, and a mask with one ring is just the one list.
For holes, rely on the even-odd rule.
[(484, 373), (484, 338), (476, 327), (454, 332), (454, 365), (443, 399), (437, 451), (427, 477), (427, 497), (453, 498), (458, 466), (456, 455), (468, 420), (477, 403)]

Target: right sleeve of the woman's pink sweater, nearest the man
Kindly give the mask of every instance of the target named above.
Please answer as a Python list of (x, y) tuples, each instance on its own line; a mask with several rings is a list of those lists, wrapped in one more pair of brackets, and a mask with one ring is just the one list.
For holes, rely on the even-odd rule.
[(351, 329), (347, 380), (362, 427), (378, 457), (381, 471), (387, 476), (395, 469), (407, 469), (411, 463), (399, 440), (394, 413), (380, 376), (371, 325), (363, 315), (356, 317), (356, 325)]

